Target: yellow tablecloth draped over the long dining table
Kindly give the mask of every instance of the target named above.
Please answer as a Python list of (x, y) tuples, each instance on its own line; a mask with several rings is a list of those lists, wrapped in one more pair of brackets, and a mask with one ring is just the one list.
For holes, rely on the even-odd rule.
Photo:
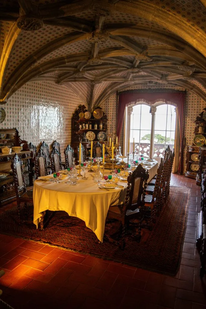
[[(158, 163), (155, 161), (152, 167), (145, 167), (152, 171), (149, 173), (149, 180), (157, 172)], [(82, 173), (83, 174), (83, 173)], [(48, 176), (43, 176), (34, 182), (33, 204), (34, 218), (33, 222), (38, 228), (41, 213), (45, 210), (64, 210), (69, 216), (74, 216), (83, 220), (90, 228), (99, 241), (103, 242), (105, 220), (109, 206), (123, 204), (126, 197), (127, 181), (118, 181), (115, 189), (100, 189), (93, 181), (94, 172), (86, 172), (87, 180), (79, 177), (75, 186), (66, 184), (67, 179), (60, 180), (59, 183), (44, 181)], [(109, 170), (105, 170), (105, 175)], [(49, 175), (53, 177), (53, 175)], [(105, 183), (102, 180), (102, 184)], [(122, 187), (124, 186), (124, 187)]]

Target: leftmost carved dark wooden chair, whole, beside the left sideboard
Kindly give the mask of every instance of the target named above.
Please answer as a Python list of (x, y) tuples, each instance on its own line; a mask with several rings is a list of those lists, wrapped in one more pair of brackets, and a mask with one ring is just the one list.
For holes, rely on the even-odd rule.
[[(25, 210), (27, 208), (27, 203), (33, 203), (33, 191), (27, 191), (26, 184), (23, 175), (22, 160), (17, 154), (15, 154), (12, 162), (11, 168), (13, 171), (14, 185), (16, 191), (16, 200), (18, 207), (18, 217), (20, 218), (20, 203), (23, 202)], [(25, 211), (26, 212), (26, 211)]]

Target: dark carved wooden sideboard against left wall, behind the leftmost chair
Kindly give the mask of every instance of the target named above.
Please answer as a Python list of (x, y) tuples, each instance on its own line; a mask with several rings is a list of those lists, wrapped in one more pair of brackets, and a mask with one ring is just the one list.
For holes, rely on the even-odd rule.
[[(24, 175), (27, 186), (33, 185), (32, 176), (32, 157), (31, 151), (28, 149), (28, 144), (19, 137), (17, 129), (0, 129), (0, 151), (3, 146), (13, 147), (22, 146), (23, 150), (17, 154), (23, 161)], [(16, 198), (13, 173), (11, 170), (11, 161), (15, 155), (12, 151), (11, 154), (4, 154), (0, 152), (0, 175), (7, 174), (5, 177), (0, 176), (0, 206), (10, 203)]]

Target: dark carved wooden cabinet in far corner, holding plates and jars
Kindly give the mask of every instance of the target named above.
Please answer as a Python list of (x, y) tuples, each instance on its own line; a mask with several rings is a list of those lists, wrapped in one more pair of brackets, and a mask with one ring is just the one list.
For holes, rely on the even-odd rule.
[[(90, 150), (91, 150), (91, 141), (86, 138), (86, 133), (88, 131), (92, 131), (95, 133), (95, 139), (93, 140), (93, 144), (95, 142), (99, 142), (102, 144), (103, 142), (99, 141), (97, 135), (99, 132), (107, 132), (107, 116), (103, 113), (103, 117), (101, 119), (95, 119), (93, 115), (91, 115), (90, 119), (79, 118), (80, 112), (86, 112), (86, 107), (84, 105), (79, 105), (78, 109), (74, 112), (72, 117), (72, 141), (71, 146), (74, 149), (74, 157), (77, 159), (78, 146), (79, 143), (82, 143), (82, 146), (85, 148), (86, 158), (90, 158)], [(91, 113), (92, 114), (92, 113)], [(84, 126), (83, 126), (84, 124)], [(88, 125), (88, 128), (87, 128)], [(95, 126), (96, 125), (96, 126)], [(82, 128), (83, 127), (83, 128)]]

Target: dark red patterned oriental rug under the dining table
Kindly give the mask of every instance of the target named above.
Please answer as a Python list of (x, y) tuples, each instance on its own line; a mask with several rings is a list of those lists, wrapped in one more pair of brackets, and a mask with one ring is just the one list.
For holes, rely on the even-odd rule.
[[(49, 243), (106, 260), (174, 275), (177, 273), (186, 230), (190, 202), (190, 188), (170, 187), (169, 199), (152, 231), (142, 229), (140, 243), (126, 239), (124, 251), (106, 240), (98, 244), (95, 234), (85, 223), (69, 217), (63, 211), (50, 212), (44, 231), (36, 230), (33, 223), (19, 225), (17, 208), (0, 215), (0, 231), (14, 236)], [(32, 213), (32, 205), (29, 206)], [(112, 228), (112, 224), (105, 229)]]

